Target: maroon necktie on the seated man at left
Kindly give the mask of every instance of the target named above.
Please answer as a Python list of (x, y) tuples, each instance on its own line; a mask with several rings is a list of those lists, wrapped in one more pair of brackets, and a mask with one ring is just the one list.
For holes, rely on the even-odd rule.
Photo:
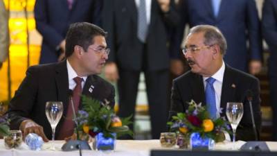
[[(73, 80), (76, 83), (75, 88), (73, 89), (72, 100), (75, 112), (78, 112), (78, 107), (80, 105), (80, 98), (82, 94), (82, 78), (75, 77)], [(57, 139), (63, 140), (65, 137), (70, 137), (73, 135), (74, 131), (74, 122), (73, 122), (73, 108), (71, 99), (69, 99), (69, 105), (67, 107), (66, 118), (62, 124), (59, 136)]]

